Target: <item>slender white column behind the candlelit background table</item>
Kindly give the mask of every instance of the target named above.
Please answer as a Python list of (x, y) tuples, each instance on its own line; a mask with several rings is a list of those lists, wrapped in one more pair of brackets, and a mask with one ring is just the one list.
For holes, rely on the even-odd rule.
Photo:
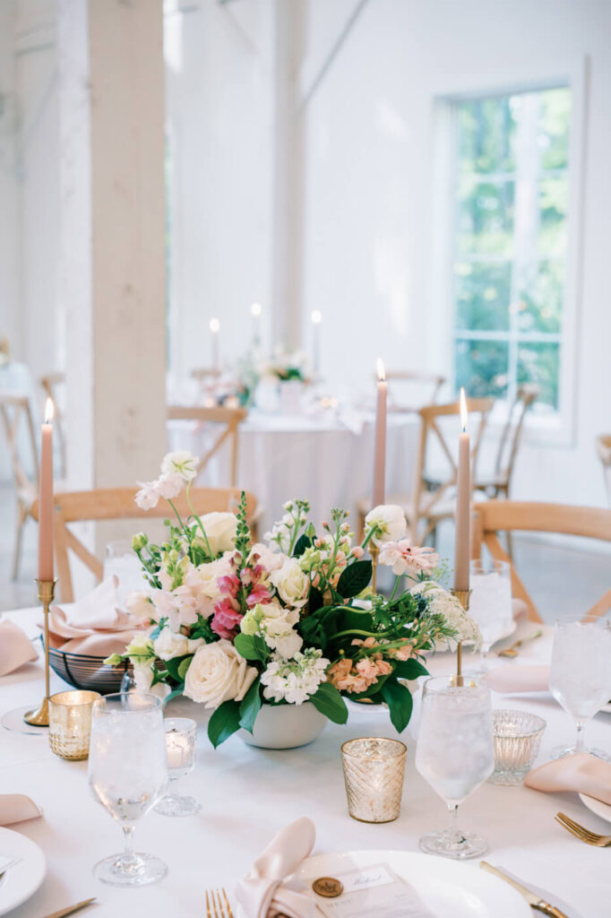
[(272, 235), (273, 342), (297, 347), (303, 312), (305, 117), (299, 114), (303, 0), (275, 0)]

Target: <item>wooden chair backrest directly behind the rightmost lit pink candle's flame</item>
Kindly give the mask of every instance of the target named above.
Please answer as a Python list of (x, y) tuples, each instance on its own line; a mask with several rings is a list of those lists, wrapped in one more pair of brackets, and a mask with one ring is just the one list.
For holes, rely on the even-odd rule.
[[(475, 476), (477, 466), (477, 456), (480, 451), (483, 431), (488, 420), (488, 415), (494, 406), (494, 398), (468, 398), (467, 410), (469, 412), (469, 429), (471, 431), (471, 470), (472, 482)], [(426, 517), (435, 513), (436, 506), (446, 497), (450, 487), (453, 487), (457, 481), (457, 450), (449, 442), (447, 431), (443, 431), (439, 426), (439, 421), (443, 418), (460, 417), (460, 402), (450, 402), (447, 405), (428, 405), (418, 411), (420, 415), (420, 444), (418, 448), (416, 464), (416, 481), (413, 491), (413, 504), (417, 517)], [(479, 422), (478, 422), (479, 421)], [(474, 431), (474, 423), (477, 423), (477, 429)], [(474, 432), (473, 432), (474, 431)], [(435, 488), (428, 487), (427, 476), (427, 456), (430, 452), (431, 443), (440, 448), (443, 454), (448, 472), (447, 476), (436, 481)], [(416, 522), (417, 526), (417, 522)], [(417, 531), (412, 532), (412, 537), (417, 538)]]

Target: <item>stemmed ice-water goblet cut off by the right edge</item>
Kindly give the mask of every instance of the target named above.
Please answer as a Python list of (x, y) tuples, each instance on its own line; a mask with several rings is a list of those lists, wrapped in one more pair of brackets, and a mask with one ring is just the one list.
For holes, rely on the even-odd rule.
[(556, 621), (550, 692), (577, 726), (575, 744), (553, 749), (552, 758), (589, 752), (611, 760), (600, 749), (587, 749), (583, 738), (585, 724), (611, 698), (611, 622), (593, 615)]

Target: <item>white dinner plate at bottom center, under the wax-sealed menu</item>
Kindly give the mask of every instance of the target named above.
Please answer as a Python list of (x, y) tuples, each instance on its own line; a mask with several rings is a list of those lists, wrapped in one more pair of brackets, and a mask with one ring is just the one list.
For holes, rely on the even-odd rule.
[(297, 875), (309, 887), (317, 877), (375, 864), (388, 864), (407, 880), (436, 918), (530, 918), (532, 914), (528, 902), (504, 880), (471, 864), (411, 851), (315, 855), (304, 861)]

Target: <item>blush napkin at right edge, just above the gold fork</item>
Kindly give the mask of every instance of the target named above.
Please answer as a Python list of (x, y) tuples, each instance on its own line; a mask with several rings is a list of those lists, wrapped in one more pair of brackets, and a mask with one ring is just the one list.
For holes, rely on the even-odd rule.
[(611, 806), (611, 763), (587, 752), (557, 758), (528, 772), (524, 783), (534, 790), (575, 790)]

